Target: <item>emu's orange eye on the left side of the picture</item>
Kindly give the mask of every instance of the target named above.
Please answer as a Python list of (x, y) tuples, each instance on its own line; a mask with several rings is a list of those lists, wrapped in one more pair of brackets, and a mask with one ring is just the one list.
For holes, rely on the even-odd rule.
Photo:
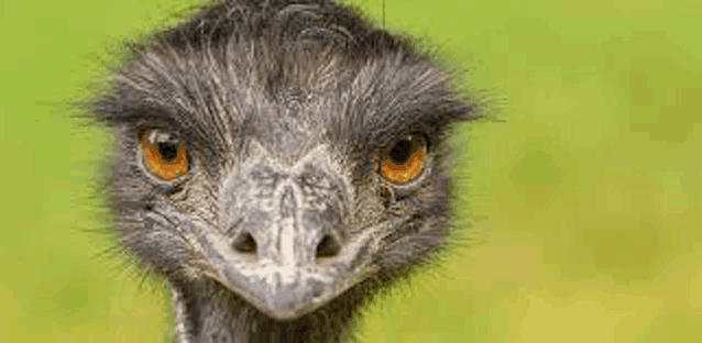
[(173, 180), (188, 172), (187, 142), (175, 133), (146, 130), (141, 137), (144, 165), (155, 176)]

